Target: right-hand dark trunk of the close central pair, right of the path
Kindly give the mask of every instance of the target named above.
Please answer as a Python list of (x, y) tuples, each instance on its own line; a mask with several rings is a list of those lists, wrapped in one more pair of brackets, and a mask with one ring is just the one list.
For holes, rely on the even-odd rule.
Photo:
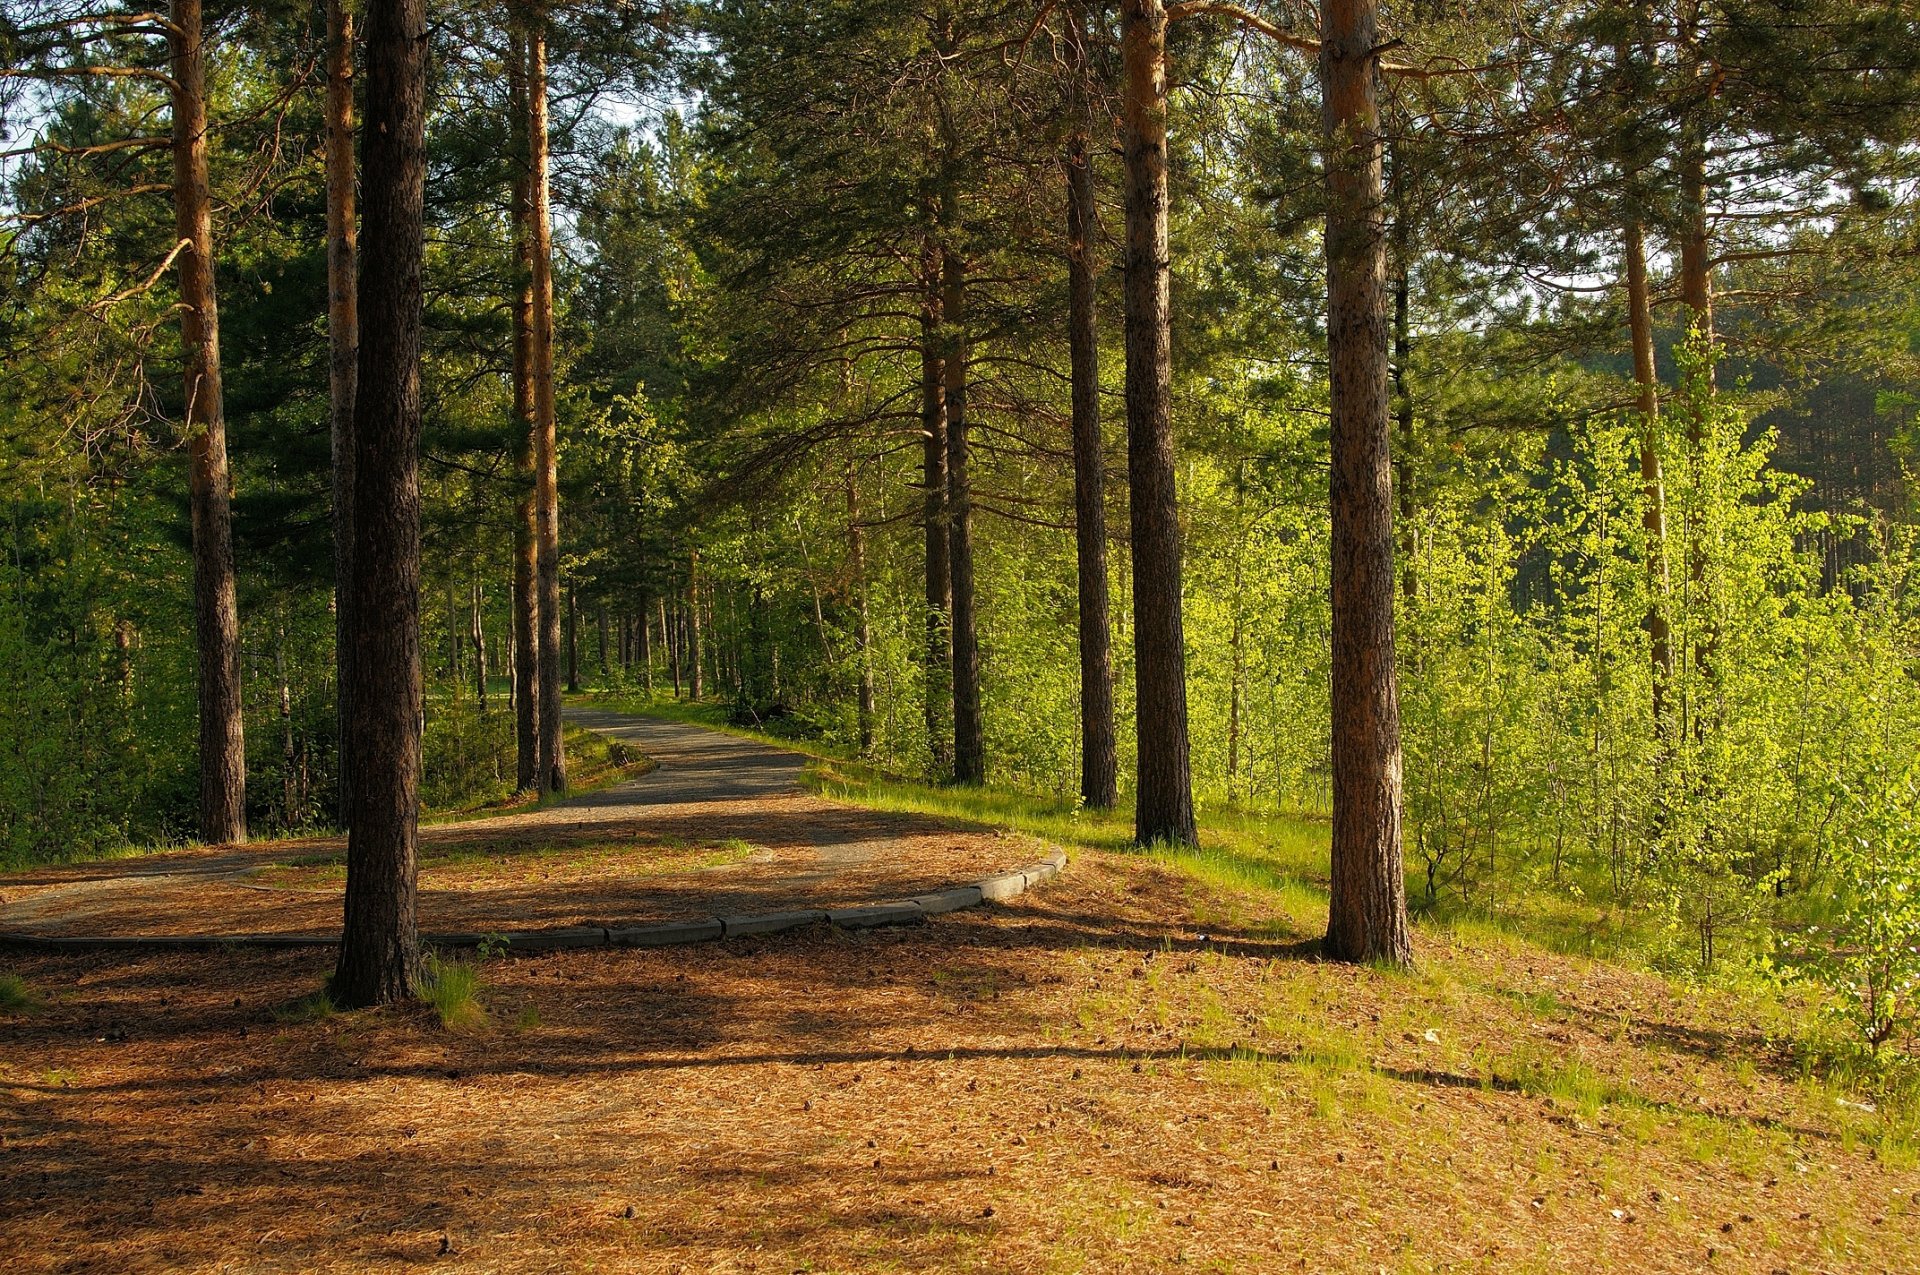
[(987, 735), (979, 714), (979, 634), (973, 624), (973, 490), (968, 478), (966, 265), (941, 252), (941, 309), (947, 351), (947, 570), (952, 580), (954, 783), (987, 782)]

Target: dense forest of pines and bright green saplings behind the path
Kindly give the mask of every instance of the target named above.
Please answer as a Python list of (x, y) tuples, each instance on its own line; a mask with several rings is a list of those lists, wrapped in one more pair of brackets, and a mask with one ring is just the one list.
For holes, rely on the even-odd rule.
[(689, 697), (1910, 1025), (1912, 6), (0, 21), (6, 862), (397, 889)]

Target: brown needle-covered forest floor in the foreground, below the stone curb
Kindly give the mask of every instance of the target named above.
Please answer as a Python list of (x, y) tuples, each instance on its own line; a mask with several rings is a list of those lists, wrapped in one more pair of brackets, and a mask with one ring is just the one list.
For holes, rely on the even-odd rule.
[(1920, 1269), (1920, 1173), (1759, 1006), (1313, 922), (1085, 853), (912, 929), (493, 960), (472, 1031), (276, 1016), (324, 952), (10, 958), (0, 1269)]

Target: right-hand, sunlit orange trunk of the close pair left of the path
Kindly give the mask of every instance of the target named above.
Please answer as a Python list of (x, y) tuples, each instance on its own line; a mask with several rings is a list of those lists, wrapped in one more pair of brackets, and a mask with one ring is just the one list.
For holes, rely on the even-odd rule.
[(526, 33), (528, 192), (534, 230), (534, 580), (540, 593), (540, 791), (566, 791), (561, 734), (561, 470), (553, 415), (553, 209), (547, 182), (547, 12)]

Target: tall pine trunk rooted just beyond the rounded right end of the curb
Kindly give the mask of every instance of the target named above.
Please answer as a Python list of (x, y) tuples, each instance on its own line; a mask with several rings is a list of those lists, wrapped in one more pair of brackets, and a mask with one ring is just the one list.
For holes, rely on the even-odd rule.
[(1127, 167), (1127, 480), (1133, 664), (1139, 716), (1135, 837), (1194, 845), (1187, 745), (1187, 636), (1173, 476), (1167, 259), (1167, 10), (1125, 0), (1121, 56)]

